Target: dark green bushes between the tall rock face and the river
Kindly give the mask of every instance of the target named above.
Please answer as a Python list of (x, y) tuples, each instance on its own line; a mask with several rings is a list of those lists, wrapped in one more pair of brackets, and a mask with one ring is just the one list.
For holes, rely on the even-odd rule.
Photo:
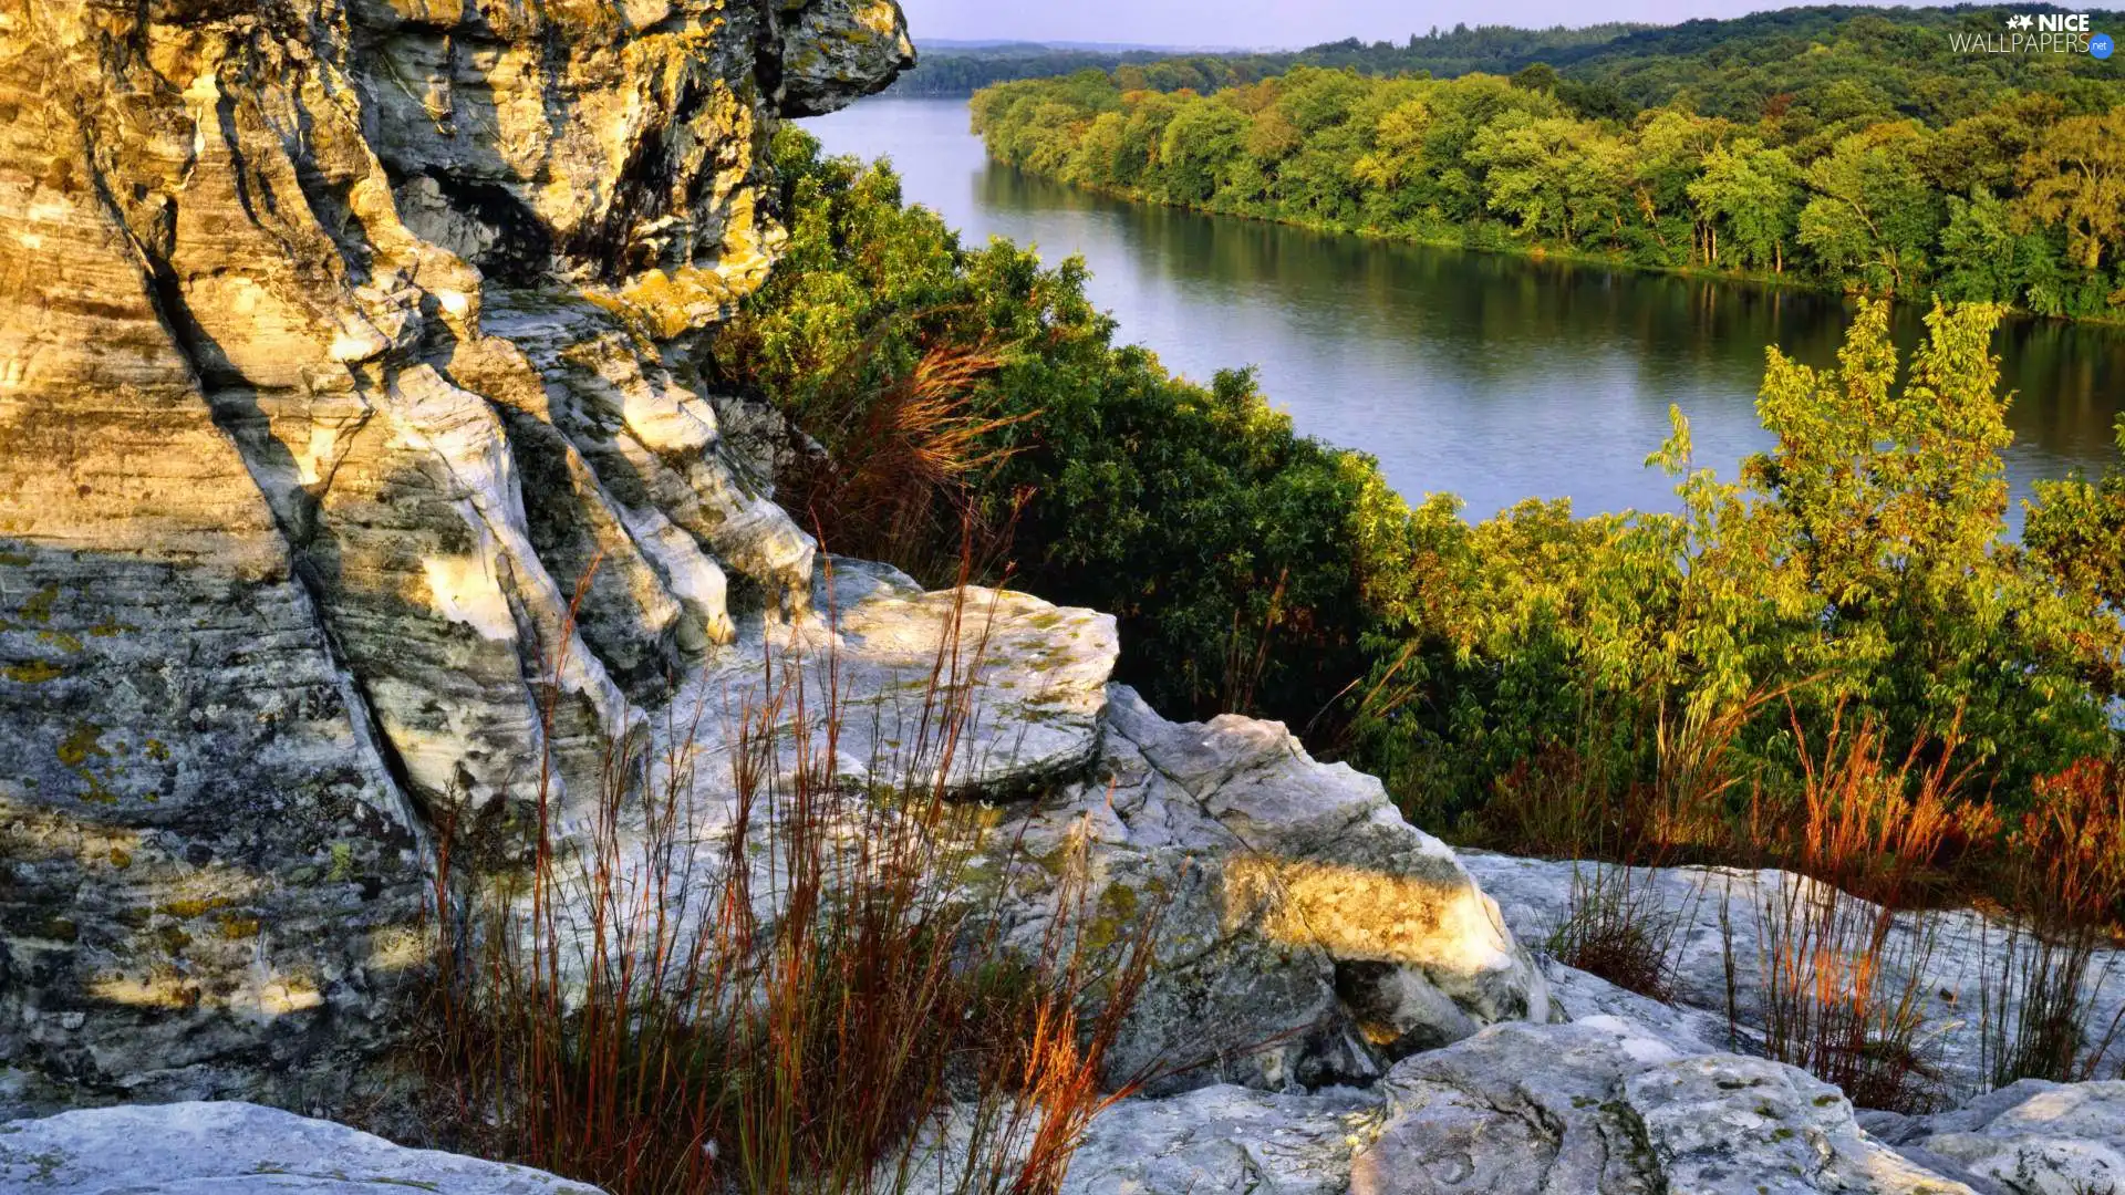
[[(793, 128), (776, 151), (790, 247), (714, 344), (725, 385), (763, 391), (829, 459), (863, 461), (878, 455), (876, 421), (852, 413), (903, 393), (924, 359), (982, 347), (992, 368), (933, 393), (980, 427), (960, 457), (984, 461), (933, 491), (926, 525), (950, 549), (960, 517), (1016, 527), (1014, 583), (1114, 612), (1130, 644), (1122, 678), (1175, 712), (1218, 712), (1258, 685), (1311, 714), (1362, 670), (1345, 544), (1379, 485), (1371, 464), (1294, 436), (1250, 372), (1201, 387), (1116, 347), (1080, 262), (1048, 270), (1001, 240), (960, 249), (899, 202), (888, 170), (820, 162)], [(950, 578), (937, 561), (952, 553), (861, 536), (829, 546)]]

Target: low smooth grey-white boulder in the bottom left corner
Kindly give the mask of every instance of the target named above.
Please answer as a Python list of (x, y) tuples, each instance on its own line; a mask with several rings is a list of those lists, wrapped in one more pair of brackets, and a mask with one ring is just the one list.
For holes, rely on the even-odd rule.
[(597, 1195), (521, 1165), (410, 1150), (257, 1104), (140, 1104), (0, 1123), (0, 1189), (21, 1195)]

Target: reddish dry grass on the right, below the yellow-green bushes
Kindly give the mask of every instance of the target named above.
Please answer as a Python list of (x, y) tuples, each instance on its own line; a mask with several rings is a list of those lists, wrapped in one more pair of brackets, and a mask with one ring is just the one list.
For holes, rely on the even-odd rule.
[[(1734, 1033), (1862, 1104), (1923, 1110), (1944, 1095), (1925, 1057), (1932, 910), (1985, 904), (2008, 919), (1980, 984), (1985, 1078), (2104, 1074), (2125, 1036), (2125, 1023), (2091, 1023), (2097, 950), (2125, 923), (2125, 765), (2076, 763), (2042, 780), (2010, 823), (1991, 802), (1964, 797), (1953, 725), (1891, 755), (1878, 723), (1832, 710), (1817, 734), (1791, 717), (1798, 778), (1776, 787), (1736, 751), (1770, 697), (1662, 714), (1651, 780), (1615, 778), (1592, 717), (1575, 744), (1553, 742), (1500, 778), (1477, 821), (1481, 844), (1587, 861), (1549, 950), (1666, 999), (1679, 910), (1632, 865), (1740, 863), (1813, 878), (1723, 908), (1730, 929), (1736, 914), (1753, 919), (1760, 942), (1753, 959), (1736, 957), (1730, 933)], [(1736, 791), (1749, 793), (1740, 808)], [(1757, 1008), (1740, 1008), (1745, 974)]]

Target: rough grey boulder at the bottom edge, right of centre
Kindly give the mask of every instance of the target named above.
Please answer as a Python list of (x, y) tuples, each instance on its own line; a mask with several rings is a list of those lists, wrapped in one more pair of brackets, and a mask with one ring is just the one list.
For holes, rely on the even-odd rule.
[(1628, 1021), (1494, 1025), (1377, 1093), (1213, 1087), (1092, 1123), (1067, 1191), (1128, 1195), (1970, 1195), (1806, 1074)]

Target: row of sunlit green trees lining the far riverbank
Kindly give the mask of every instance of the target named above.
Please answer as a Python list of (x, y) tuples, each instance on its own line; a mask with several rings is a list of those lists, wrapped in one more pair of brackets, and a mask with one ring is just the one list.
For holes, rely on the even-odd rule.
[(1213, 94), (1084, 72), (986, 87), (969, 108), (997, 162), (1133, 202), (1830, 293), (2121, 315), (2114, 238), (2087, 223), (2100, 200), (2074, 151), (2053, 147), (2110, 142), (2125, 115), (2063, 115), (2023, 91), (1923, 119), (1885, 108), (1836, 121), (1689, 104), (1587, 115), (1579, 100), (1538, 70), (1294, 68)]

